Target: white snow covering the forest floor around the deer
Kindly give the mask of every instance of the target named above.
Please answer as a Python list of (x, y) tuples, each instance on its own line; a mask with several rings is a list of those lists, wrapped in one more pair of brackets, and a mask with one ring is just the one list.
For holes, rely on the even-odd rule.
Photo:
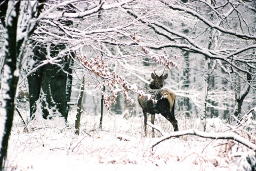
[[(28, 119), (27, 112), (22, 115)], [(15, 116), (6, 170), (243, 170), (246, 162), (241, 162), (231, 149), (250, 153), (234, 141), (195, 136), (173, 138), (152, 149), (160, 138), (142, 136), (143, 117), (104, 115), (103, 131), (97, 130), (99, 120), (99, 116), (84, 114), (81, 134), (77, 136), (75, 112), (69, 116), (68, 125), (58, 118), (30, 123), (30, 133), (23, 132), (21, 120)], [(214, 121), (209, 121), (209, 128), (223, 129), (220, 119)], [(156, 124), (165, 132), (172, 131), (171, 124), (161, 117)], [(179, 121), (180, 129), (193, 124), (189, 120)], [(150, 136), (151, 128), (148, 130)]]

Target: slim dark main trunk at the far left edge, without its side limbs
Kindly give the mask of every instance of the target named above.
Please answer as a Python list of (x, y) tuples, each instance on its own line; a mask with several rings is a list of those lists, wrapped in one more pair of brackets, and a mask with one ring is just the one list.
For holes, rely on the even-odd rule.
[[(2, 17), (5, 16), (8, 4), (5, 3), (3, 6), (1, 5), (1, 20)], [(4, 62), (4, 70), (3, 70), (3, 79), (2, 79), (2, 109), (1, 111), (3, 115), (5, 115), (5, 126), (4, 133), (2, 137), (2, 144), (0, 149), (0, 169), (4, 168), (4, 158), (7, 156), (7, 148), (8, 148), (8, 140), (11, 134), (12, 121), (14, 115), (14, 99), (18, 84), (19, 77), (14, 75), (14, 71), (17, 69), (17, 56), (19, 54), (19, 47), (17, 47), (17, 23), (19, 16), (19, 8), (20, 1), (15, 3), (14, 5), (14, 15), (10, 15), (9, 19), (12, 23), (10, 25), (4, 25), (7, 30), (7, 38), (5, 44), (5, 62)], [(1, 135), (2, 136), (2, 135)]]

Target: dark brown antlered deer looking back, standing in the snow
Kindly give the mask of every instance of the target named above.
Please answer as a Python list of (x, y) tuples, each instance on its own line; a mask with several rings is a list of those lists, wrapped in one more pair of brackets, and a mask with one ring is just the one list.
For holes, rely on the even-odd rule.
[[(161, 89), (163, 88), (164, 80), (168, 77), (168, 74), (163, 75), (163, 71), (163, 74), (158, 76), (153, 67), (152, 69), (154, 71), (154, 73), (151, 73), (151, 78), (153, 81), (150, 82), (149, 87), (146, 86), (142, 88), (143, 92), (151, 95), (151, 99), (148, 100), (145, 96), (138, 96), (138, 102), (144, 115), (145, 137), (147, 137), (147, 113), (151, 114), (151, 123), (153, 125), (155, 123), (155, 115), (161, 113), (163, 117), (170, 121), (174, 131), (179, 131), (178, 121), (174, 116), (175, 94), (170, 90)], [(152, 134), (152, 137), (155, 137), (154, 128), (152, 128)]]

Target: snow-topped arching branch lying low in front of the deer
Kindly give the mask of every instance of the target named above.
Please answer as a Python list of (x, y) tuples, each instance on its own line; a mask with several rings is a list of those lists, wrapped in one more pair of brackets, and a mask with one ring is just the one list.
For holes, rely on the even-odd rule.
[[(157, 129), (156, 127), (154, 127)], [(158, 130), (157, 130), (158, 131)], [(238, 143), (241, 143), (245, 145), (247, 148), (256, 151), (256, 145), (251, 143), (250, 141), (246, 140), (244, 137), (239, 136), (236, 133), (205, 133), (203, 131), (199, 131), (198, 129), (188, 129), (184, 131), (177, 131), (177, 132), (172, 132), (169, 135), (165, 135), (162, 140), (158, 141), (156, 144), (152, 145), (151, 148), (154, 148), (157, 144), (171, 139), (171, 137), (177, 137), (177, 136), (183, 136), (183, 135), (196, 135), (199, 137), (203, 138), (208, 138), (208, 139), (220, 139), (220, 140), (234, 140)]]

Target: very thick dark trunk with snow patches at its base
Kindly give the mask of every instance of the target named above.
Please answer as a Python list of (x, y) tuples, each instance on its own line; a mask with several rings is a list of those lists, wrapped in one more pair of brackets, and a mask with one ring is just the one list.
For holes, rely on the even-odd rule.
[[(51, 45), (50, 56), (54, 58), (60, 50), (64, 50), (66, 45)], [(39, 62), (46, 60), (46, 48), (35, 47), (34, 58), (36, 67)], [(74, 54), (73, 54), (74, 55)], [(33, 119), (36, 112), (37, 104), (41, 103), (44, 119), (51, 119), (53, 116), (60, 115), (67, 121), (68, 118), (68, 101), (71, 95), (72, 77), (70, 73), (71, 58), (65, 56), (58, 64), (47, 63), (45, 66), (38, 68), (28, 77), (29, 95), (30, 95), (30, 117)], [(69, 85), (67, 80), (69, 77)]]

